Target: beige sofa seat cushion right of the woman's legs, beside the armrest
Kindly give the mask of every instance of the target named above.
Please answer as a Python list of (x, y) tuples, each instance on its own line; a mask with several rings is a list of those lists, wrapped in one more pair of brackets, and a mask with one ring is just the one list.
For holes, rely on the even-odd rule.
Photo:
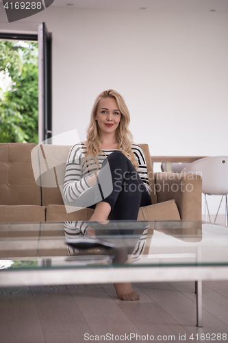
[(140, 207), (138, 220), (180, 220), (175, 200)]

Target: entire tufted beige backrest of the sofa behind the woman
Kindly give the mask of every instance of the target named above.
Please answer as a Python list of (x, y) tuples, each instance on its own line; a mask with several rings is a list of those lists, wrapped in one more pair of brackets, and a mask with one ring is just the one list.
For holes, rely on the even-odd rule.
[[(146, 158), (151, 198), (155, 204), (157, 196), (149, 147), (140, 146)], [(64, 204), (61, 192), (70, 150), (71, 145), (0, 143), (0, 204)]]

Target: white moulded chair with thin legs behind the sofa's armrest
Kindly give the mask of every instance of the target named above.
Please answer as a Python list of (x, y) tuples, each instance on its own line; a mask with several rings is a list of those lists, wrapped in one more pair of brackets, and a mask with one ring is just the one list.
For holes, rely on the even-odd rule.
[[(193, 163), (189, 163), (183, 168), (181, 173), (199, 174), (202, 176), (202, 192), (205, 194), (205, 222), (207, 221), (207, 212), (210, 218), (210, 213), (207, 204), (207, 195), (225, 196), (225, 225), (228, 222), (228, 207), (227, 207), (227, 194), (228, 194), (228, 156), (214, 156), (201, 158)], [(223, 197), (218, 206), (223, 201)], [(218, 215), (218, 211), (214, 222)]]

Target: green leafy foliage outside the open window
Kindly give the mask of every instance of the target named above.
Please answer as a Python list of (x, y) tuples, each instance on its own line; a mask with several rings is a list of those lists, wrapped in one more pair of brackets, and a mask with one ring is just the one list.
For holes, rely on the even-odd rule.
[(11, 78), (0, 88), (0, 142), (38, 143), (38, 43), (0, 40), (0, 72)]

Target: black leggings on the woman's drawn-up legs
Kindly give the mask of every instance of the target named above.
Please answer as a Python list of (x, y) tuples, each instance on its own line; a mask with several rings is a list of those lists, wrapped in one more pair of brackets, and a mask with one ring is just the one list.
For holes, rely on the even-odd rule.
[[(103, 190), (107, 180), (107, 162), (112, 175), (113, 189), (112, 193), (105, 196)], [(103, 161), (97, 185), (88, 189), (91, 196), (94, 192), (98, 193), (96, 191), (97, 187), (99, 187), (102, 201), (108, 202), (111, 206), (111, 220), (137, 220), (140, 207), (151, 205), (151, 196), (134, 165), (120, 151), (112, 152)], [(85, 196), (89, 196), (88, 191), (84, 193)], [(95, 206), (96, 204), (93, 204), (88, 207), (94, 209)]]

